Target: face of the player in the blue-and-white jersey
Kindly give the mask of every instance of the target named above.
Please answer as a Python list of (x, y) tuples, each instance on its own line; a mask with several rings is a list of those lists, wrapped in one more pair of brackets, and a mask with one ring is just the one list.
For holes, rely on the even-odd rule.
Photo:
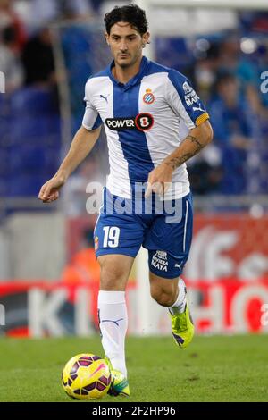
[(114, 62), (121, 67), (130, 67), (142, 55), (142, 46), (147, 44), (149, 33), (140, 35), (128, 22), (117, 22), (110, 35), (105, 34), (107, 44), (111, 46)]

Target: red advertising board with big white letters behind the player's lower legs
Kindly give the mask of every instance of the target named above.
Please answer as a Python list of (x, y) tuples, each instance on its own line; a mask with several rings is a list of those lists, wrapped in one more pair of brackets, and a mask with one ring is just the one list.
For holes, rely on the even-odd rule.
[[(7, 282), (0, 285), (5, 308), (7, 336), (61, 337), (66, 334), (90, 336), (98, 333), (96, 281), (75, 285), (47, 281)], [(127, 290), (129, 334), (168, 335), (170, 319), (166, 308), (151, 300), (151, 319), (140, 331), (141, 319), (137, 285)], [(268, 332), (268, 280), (188, 281), (188, 296), (197, 333)]]

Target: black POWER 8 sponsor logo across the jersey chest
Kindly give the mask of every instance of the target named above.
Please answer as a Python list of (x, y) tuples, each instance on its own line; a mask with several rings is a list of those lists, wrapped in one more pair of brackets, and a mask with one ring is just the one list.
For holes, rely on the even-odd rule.
[(106, 126), (110, 130), (150, 130), (154, 125), (151, 113), (138, 113), (136, 117), (106, 118)]

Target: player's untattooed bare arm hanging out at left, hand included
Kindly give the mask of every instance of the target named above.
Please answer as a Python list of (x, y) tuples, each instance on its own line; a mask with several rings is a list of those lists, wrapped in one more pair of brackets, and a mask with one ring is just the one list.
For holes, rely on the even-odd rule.
[(100, 130), (101, 127), (96, 130), (86, 130), (83, 126), (80, 127), (71, 142), (70, 150), (59, 167), (59, 170), (40, 189), (38, 198), (43, 203), (51, 203), (59, 197), (59, 190), (63, 187), (71, 172), (77, 168), (94, 147)]

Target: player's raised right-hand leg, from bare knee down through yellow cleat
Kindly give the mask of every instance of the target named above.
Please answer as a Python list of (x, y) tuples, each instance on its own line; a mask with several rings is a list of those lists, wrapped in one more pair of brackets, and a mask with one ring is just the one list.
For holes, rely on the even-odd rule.
[(152, 298), (159, 305), (169, 308), (174, 340), (181, 348), (187, 347), (195, 328), (189, 314), (184, 281), (180, 277), (165, 279), (150, 272), (150, 289)]

